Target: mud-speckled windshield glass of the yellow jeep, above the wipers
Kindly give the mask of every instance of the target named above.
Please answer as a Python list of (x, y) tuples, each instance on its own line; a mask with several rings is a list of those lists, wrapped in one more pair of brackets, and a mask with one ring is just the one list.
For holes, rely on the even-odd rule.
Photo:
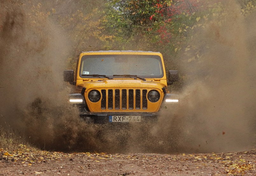
[(121, 75), (162, 78), (163, 65), (157, 55), (84, 55), (81, 59), (80, 77), (93, 78), (93, 74), (111, 78), (113, 75), (120, 75), (114, 78), (124, 77)]

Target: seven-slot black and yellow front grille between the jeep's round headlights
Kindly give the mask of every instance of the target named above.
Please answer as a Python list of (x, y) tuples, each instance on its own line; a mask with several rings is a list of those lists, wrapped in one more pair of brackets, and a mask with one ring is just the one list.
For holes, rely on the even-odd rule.
[(147, 92), (147, 89), (101, 89), (101, 109), (147, 109)]

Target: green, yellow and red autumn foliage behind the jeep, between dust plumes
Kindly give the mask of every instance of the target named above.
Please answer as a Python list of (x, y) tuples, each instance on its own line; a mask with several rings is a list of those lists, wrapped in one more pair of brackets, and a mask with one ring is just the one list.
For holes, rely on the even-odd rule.
[[(255, 11), (256, 0), (236, 0), (244, 16)], [(90, 50), (152, 50), (163, 53), (168, 69), (179, 63), (202, 62), (208, 48), (193, 43), (214, 21), (223, 25), (229, 20), (229, 1), (215, 0), (80, 0), (81, 8), (60, 13), (57, 7), (47, 10), (38, 3), (31, 6), (31, 25), (39, 30), (48, 19), (58, 16), (58, 23), (72, 41), (73, 53), (68, 67), (75, 68), (77, 55)], [(234, 1), (235, 2), (235, 1)], [(234, 3), (233, 2), (233, 3)], [(207, 42), (205, 42), (207, 45)], [(183, 74), (183, 73), (181, 73)]]

